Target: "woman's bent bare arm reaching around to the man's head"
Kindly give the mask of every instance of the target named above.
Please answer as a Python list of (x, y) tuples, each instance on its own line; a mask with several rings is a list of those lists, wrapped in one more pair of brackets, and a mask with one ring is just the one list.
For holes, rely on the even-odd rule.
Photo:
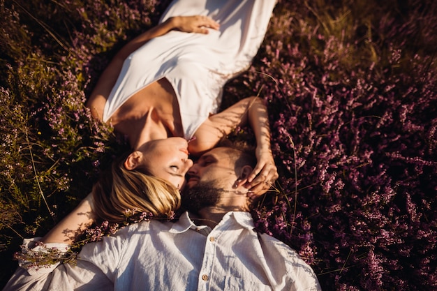
[(257, 97), (240, 100), (218, 114), (209, 117), (195, 132), (195, 140), (188, 146), (193, 154), (212, 149), (222, 137), (237, 126), (249, 124), (256, 139), (258, 163), (246, 181), (241, 181), (254, 193), (265, 191), (278, 178), (278, 172), (270, 148), (270, 130), (267, 107)]

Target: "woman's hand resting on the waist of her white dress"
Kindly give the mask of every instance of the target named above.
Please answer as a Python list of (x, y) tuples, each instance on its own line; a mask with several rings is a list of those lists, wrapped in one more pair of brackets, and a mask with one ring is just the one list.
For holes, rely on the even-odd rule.
[(211, 17), (203, 15), (193, 16), (176, 16), (170, 18), (172, 25), (175, 29), (183, 32), (195, 32), (195, 33), (209, 33), (208, 29), (216, 29), (220, 27), (220, 24), (212, 20)]

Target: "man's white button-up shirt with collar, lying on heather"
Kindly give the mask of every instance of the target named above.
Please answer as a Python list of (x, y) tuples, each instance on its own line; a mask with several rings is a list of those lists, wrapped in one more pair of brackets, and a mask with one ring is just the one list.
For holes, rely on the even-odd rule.
[(229, 212), (213, 230), (195, 226), (187, 213), (177, 223), (137, 223), (87, 244), (80, 258), (50, 274), (19, 268), (5, 291), (320, 290), (311, 267), (255, 232), (247, 212)]

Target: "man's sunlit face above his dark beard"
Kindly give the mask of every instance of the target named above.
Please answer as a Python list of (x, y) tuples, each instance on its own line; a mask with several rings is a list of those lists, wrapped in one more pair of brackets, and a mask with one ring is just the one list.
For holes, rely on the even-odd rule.
[(203, 154), (197, 163), (188, 170), (187, 188), (208, 183), (217, 188), (232, 189), (237, 180), (235, 160), (230, 156), (230, 149), (218, 147)]

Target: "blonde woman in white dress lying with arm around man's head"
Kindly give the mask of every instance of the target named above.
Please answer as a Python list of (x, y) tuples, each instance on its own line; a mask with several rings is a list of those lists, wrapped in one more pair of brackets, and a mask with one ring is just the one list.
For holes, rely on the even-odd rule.
[[(95, 219), (123, 221), (127, 209), (170, 214), (179, 207), (177, 189), (184, 186), (193, 163), (188, 151), (199, 155), (247, 123), (255, 133), (258, 165), (236, 186), (244, 185), (251, 193), (269, 188), (278, 174), (265, 106), (252, 97), (212, 113), (225, 82), (249, 66), (257, 52), (274, 4), (173, 1), (157, 27), (117, 53), (87, 105), (94, 117), (127, 135), (133, 152), (103, 175), (94, 196), (66, 218), (69, 225), (61, 222), (43, 241), (71, 243)], [(77, 221), (77, 229), (71, 229), (71, 221)]]

